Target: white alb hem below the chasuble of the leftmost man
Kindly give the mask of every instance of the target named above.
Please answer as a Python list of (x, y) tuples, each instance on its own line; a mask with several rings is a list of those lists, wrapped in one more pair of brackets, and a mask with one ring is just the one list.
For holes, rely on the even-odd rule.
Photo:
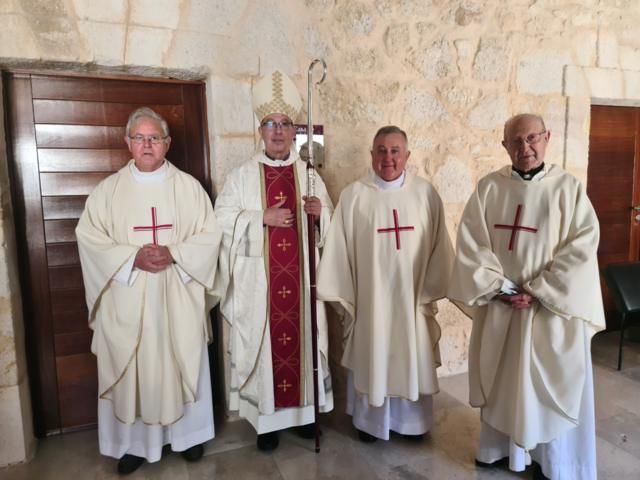
[(174, 452), (182, 452), (215, 436), (206, 344), (202, 352), (197, 400), (186, 404), (184, 416), (172, 425), (146, 425), (139, 419), (132, 425), (124, 424), (114, 416), (110, 400), (98, 400), (98, 439), (102, 455), (122, 458), (130, 454), (153, 463), (162, 458), (164, 445), (170, 444)]

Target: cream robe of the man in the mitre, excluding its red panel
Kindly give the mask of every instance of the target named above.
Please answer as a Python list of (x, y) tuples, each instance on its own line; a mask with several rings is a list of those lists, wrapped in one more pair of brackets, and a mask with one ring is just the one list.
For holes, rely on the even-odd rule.
[[(229, 407), (251, 422), (258, 433), (280, 430), (313, 422), (313, 375), (311, 335), (302, 339), (305, 352), (302, 366), (303, 385), (300, 407), (276, 408), (274, 401), (274, 369), (269, 325), (270, 262), (266, 227), (262, 223), (267, 208), (263, 167), (275, 169), (294, 167), (296, 191), (296, 225), (299, 229), (302, 263), (301, 296), (304, 297), (301, 331), (311, 332), (309, 303), (309, 264), (307, 221), (303, 211), (302, 195), (306, 191), (306, 164), (291, 150), (288, 159), (276, 161), (258, 153), (248, 162), (232, 171), (216, 199), (215, 214), (223, 229), (220, 254), (220, 273), (226, 292), (221, 301), (221, 313), (231, 327), (229, 351), (231, 379)], [(316, 176), (316, 196), (322, 203), (320, 224), (316, 229), (317, 247), (321, 247), (329, 226), (333, 206), (324, 183)], [(283, 248), (286, 248), (284, 246)], [(318, 318), (318, 370), (320, 411), (333, 409), (333, 394), (328, 364), (327, 323), (324, 304), (317, 302)]]

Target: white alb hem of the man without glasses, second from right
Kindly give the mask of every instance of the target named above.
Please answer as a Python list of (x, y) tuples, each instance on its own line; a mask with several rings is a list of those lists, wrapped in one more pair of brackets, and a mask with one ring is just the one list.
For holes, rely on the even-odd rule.
[(369, 405), (369, 396), (358, 393), (353, 372), (347, 375), (347, 414), (353, 425), (369, 435), (389, 440), (393, 430), (402, 435), (423, 435), (433, 423), (433, 396), (420, 395), (415, 402), (400, 397), (386, 397), (381, 407)]

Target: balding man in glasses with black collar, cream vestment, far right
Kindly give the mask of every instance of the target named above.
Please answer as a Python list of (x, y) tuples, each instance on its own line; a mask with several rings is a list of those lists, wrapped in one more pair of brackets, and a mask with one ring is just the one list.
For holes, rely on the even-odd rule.
[(582, 184), (544, 163), (550, 131), (504, 128), (512, 165), (480, 179), (462, 215), (449, 297), (471, 307), (476, 463), (534, 478), (597, 477), (591, 338), (604, 328), (598, 220)]

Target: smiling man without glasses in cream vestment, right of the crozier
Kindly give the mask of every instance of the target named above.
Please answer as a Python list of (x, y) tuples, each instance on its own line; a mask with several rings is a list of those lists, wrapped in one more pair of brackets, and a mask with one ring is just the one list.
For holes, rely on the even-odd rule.
[(453, 249), (440, 196), (405, 170), (407, 135), (381, 128), (372, 169), (340, 195), (318, 269), (318, 298), (344, 310), (347, 413), (359, 438), (430, 429), (440, 366), (436, 301)]

